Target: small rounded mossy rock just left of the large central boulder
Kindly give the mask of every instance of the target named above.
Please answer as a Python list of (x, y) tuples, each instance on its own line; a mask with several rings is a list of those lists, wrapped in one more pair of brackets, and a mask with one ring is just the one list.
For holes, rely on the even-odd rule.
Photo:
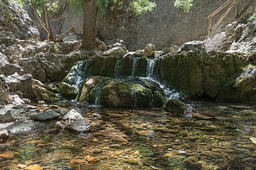
[(74, 99), (78, 95), (78, 89), (76, 89), (74, 86), (71, 86), (70, 84), (61, 82), (59, 86), (60, 86), (60, 94), (64, 98)]

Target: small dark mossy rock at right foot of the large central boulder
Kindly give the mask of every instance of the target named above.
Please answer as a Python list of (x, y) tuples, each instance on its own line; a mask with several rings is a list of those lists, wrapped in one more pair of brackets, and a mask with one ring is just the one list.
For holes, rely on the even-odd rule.
[(186, 105), (178, 99), (171, 99), (167, 101), (164, 109), (171, 113), (183, 114), (184, 111), (186, 110)]

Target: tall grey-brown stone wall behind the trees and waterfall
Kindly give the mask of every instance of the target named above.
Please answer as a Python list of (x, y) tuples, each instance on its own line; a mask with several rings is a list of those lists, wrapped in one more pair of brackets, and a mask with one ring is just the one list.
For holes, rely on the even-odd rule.
[[(207, 16), (225, 1), (227, 0), (194, 0), (191, 11), (183, 13), (182, 10), (174, 8), (173, 0), (161, 0), (156, 1), (157, 7), (146, 15), (135, 16), (126, 12), (115, 16), (114, 21), (99, 16), (97, 37), (107, 44), (122, 39), (129, 50), (144, 48), (149, 42), (154, 43), (157, 50), (161, 50), (171, 44), (181, 45), (190, 40), (205, 40)], [(240, 0), (240, 8), (246, 4), (247, 0)], [(235, 9), (225, 19), (227, 23), (234, 21), (234, 13)], [(221, 13), (215, 18), (220, 15)], [(63, 26), (61, 29), (53, 26), (54, 33), (67, 33), (72, 27), (82, 32), (82, 12), (73, 13), (68, 9), (61, 17), (65, 18)]]

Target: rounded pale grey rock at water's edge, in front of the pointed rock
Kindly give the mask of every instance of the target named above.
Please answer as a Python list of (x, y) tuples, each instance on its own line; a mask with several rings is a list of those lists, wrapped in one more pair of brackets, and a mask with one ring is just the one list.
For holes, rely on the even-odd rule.
[(90, 131), (90, 123), (85, 119), (78, 119), (73, 122), (70, 122), (66, 127), (67, 130), (72, 132), (89, 132)]

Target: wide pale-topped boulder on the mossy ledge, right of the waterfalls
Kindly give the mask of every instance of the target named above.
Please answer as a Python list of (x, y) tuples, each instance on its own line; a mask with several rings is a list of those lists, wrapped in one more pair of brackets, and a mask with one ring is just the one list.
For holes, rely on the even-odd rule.
[(203, 44), (203, 41), (194, 40), (190, 42), (186, 42), (183, 45), (181, 45), (181, 48), (179, 51), (206, 51), (206, 46)]

